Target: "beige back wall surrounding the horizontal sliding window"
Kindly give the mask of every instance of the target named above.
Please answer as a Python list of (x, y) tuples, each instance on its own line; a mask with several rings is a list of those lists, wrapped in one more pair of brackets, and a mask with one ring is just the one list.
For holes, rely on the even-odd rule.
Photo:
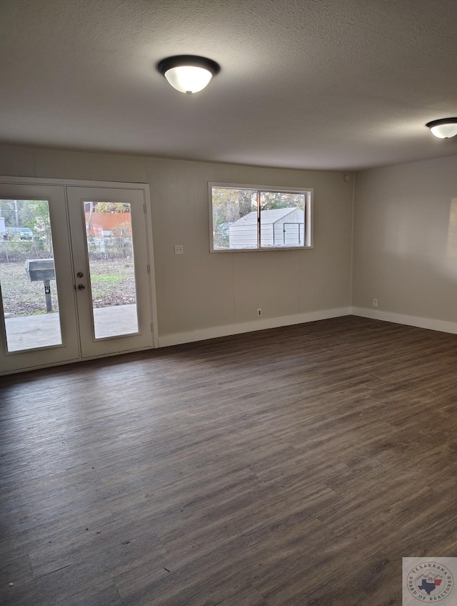
[[(353, 184), (343, 173), (5, 145), (0, 175), (149, 183), (161, 344), (331, 316), (351, 305)], [(314, 188), (314, 248), (210, 254), (208, 181)], [(174, 244), (184, 245), (184, 255), (174, 255)]]

